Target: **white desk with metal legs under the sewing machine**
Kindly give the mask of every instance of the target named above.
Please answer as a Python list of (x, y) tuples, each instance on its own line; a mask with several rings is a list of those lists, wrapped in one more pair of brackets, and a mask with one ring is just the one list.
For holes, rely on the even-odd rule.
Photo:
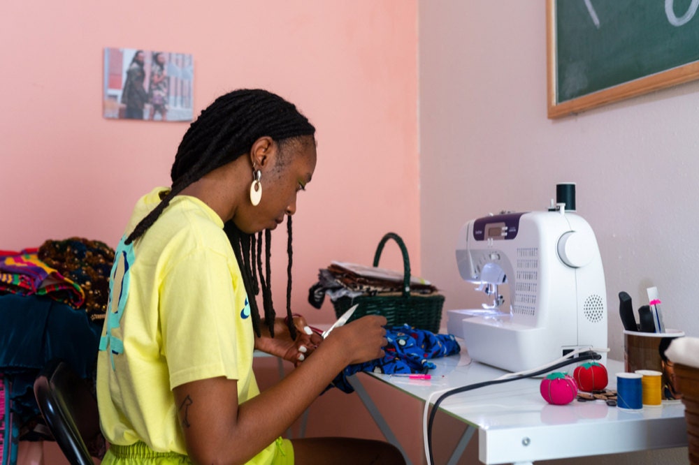
[[(477, 362), (469, 363), (470, 358), (465, 351), (461, 355), (432, 361), (437, 369), (430, 371), (432, 379), (429, 381), (391, 378), (381, 374), (370, 376), (426, 401), (432, 392), (489, 381), (507, 373)], [(575, 364), (561, 371), (572, 373), (573, 369)], [(614, 389), (614, 374), (624, 371), (624, 364), (610, 360), (607, 371), (610, 374), (608, 388)], [(401, 448), (386, 422), (373, 408), (373, 401), (363, 389), (360, 378), (352, 376), (350, 382), (384, 436)], [(602, 401), (576, 400), (565, 406), (554, 406), (542, 399), (540, 382), (540, 378), (528, 378), (455, 394), (445, 399), (440, 409), (468, 425), (449, 463), (458, 459), (475, 431), (478, 432), (479, 459), (484, 464), (530, 464), (535, 460), (687, 445), (684, 405), (680, 402), (664, 404), (659, 408), (644, 408), (640, 412), (623, 411)], [(422, 427), (422, 418), (416, 419), (415, 425)]]

